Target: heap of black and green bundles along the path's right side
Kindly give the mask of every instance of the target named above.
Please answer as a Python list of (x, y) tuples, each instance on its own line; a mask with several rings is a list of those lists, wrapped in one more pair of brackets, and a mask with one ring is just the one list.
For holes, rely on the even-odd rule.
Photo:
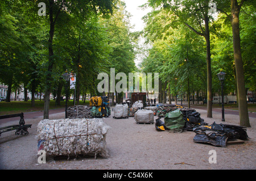
[[(180, 114), (177, 115), (177, 112), (180, 112)], [(192, 108), (170, 110), (170, 112), (165, 113), (164, 121), (160, 120), (161, 118), (162, 116), (159, 116), (155, 122), (157, 131), (176, 129), (179, 126), (179, 129), (196, 133), (196, 136), (193, 138), (194, 142), (226, 147), (227, 141), (248, 139), (246, 127), (217, 124), (215, 122), (209, 125), (204, 122), (204, 119), (201, 119), (200, 113)]]

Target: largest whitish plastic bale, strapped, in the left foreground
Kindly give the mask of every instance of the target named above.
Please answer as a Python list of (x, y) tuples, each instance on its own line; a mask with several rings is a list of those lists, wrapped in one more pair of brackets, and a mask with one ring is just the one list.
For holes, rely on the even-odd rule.
[(108, 157), (106, 133), (102, 119), (42, 120), (38, 124), (38, 151), (46, 155), (96, 155)]

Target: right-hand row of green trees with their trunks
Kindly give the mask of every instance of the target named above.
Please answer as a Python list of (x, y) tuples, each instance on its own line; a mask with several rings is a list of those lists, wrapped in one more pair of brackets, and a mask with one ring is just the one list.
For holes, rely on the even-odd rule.
[[(207, 97), (208, 117), (212, 117), (212, 97), (220, 92), (216, 74), (225, 71), (225, 94), (235, 92), (238, 103), (246, 103), (243, 89), (255, 92), (253, 3), (232, 0), (230, 5), (230, 1), (148, 0), (143, 7), (152, 8), (144, 16), (147, 23), (144, 36), (152, 48), (148, 49), (149, 55), (141, 66), (144, 71), (160, 73), (160, 82), (163, 82), (159, 85), (163, 94), (160, 90), (160, 102), (165, 102), (167, 90), (169, 95), (187, 94), (188, 102), (193, 95), (200, 95), (201, 99)], [(211, 9), (214, 13), (209, 13)], [(240, 31), (234, 29), (233, 20), (238, 19), (238, 10)], [(237, 53), (240, 54), (236, 51), (237, 44), (240, 45), (237, 32), (241, 36), (242, 58), (236, 58)], [(241, 125), (249, 126), (247, 105), (239, 104), (239, 107)]]

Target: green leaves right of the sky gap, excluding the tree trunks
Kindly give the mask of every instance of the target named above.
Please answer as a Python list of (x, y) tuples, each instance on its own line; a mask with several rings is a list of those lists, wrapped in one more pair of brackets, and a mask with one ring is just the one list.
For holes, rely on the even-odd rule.
[[(204, 62), (206, 46), (202, 37), (197, 35), (205, 36), (204, 18), (209, 10), (208, 3), (207, 1), (149, 0), (144, 5), (153, 9), (144, 16), (144, 21), (147, 23), (144, 35), (152, 48), (148, 50), (149, 55), (142, 62), (142, 68), (146, 72), (159, 72), (160, 79), (169, 82), (173, 94), (187, 92), (188, 79), (192, 94), (198, 90), (203, 92), (207, 90), (207, 69)], [(230, 9), (230, 1), (216, 3), (218, 8), (221, 7), (226, 11)], [(255, 6), (246, 4), (240, 15), (243, 68), (246, 87), (250, 90), (255, 90), (254, 12)], [(236, 91), (230, 20), (221, 12), (217, 19), (209, 16), (209, 27), (213, 95), (220, 90), (220, 81), (216, 74), (221, 70), (227, 73), (225, 94), (230, 94)], [(188, 61), (185, 62), (185, 59)]]

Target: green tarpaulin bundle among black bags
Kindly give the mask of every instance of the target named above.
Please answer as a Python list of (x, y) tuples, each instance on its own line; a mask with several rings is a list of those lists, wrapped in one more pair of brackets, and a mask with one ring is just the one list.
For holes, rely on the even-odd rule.
[(170, 132), (182, 132), (185, 125), (183, 114), (180, 110), (166, 113), (166, 116), (164, 117), (164, 124), (168, 129), (170, 129)]

